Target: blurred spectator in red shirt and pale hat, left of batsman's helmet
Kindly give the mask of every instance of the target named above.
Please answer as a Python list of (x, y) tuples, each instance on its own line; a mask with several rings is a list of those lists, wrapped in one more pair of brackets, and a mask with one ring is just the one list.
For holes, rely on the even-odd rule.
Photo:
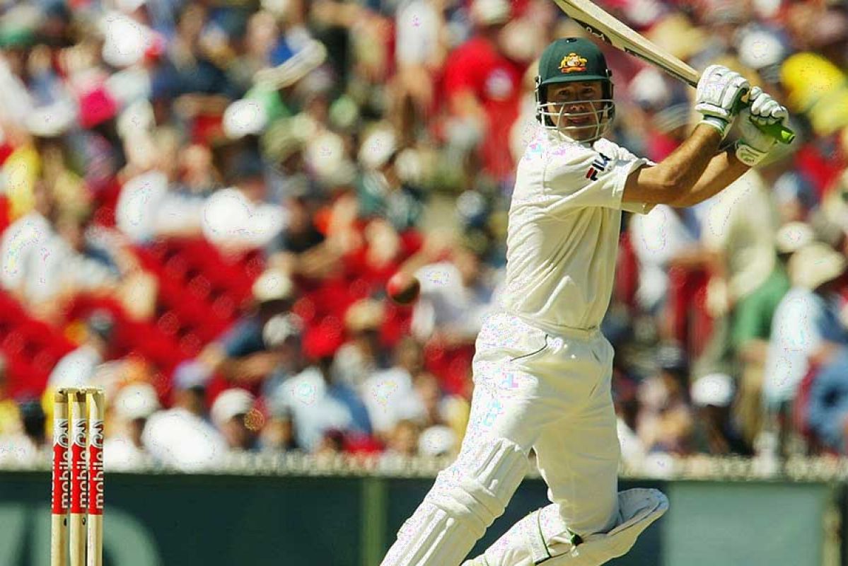
[(524, 64), (509, 59), (500, 41), (509, 19), (507, 0), (474, 0), (474, 33), (449, 54), (444, 70), (449, 112), (461, 120), (462, 130), (477, 126), (483, 169), (498, 181), (514, 169), (510, 127), (518, 117), (524, 72)]

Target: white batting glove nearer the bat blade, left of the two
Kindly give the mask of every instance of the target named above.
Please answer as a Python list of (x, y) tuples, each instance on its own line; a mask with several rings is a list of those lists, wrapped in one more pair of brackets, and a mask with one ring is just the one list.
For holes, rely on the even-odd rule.
[(733, 125), (739, 98), (749, 89), (750, 83), (744, 76), (720, 64), (711, 64), (698, 81), (695, 109), (704, 116), (700, 123), (716, 128), (723, 139)]

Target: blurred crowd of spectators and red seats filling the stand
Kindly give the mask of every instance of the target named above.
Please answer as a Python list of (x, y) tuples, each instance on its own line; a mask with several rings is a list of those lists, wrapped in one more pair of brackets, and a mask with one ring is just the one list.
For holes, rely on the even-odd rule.
[[(848, 451), (848, 6), (605, 0), (799, 133), (692, 209), (626, 216), (604, 331), (625, 462)], [(106, 389), (106, 464), (452, 454), (497, 308), (549, 0), (0, 1), (0, 462)], [(661, 160), (692, 89), (607, 50)], [(416, 273), (421, 297), (385, 284)]]

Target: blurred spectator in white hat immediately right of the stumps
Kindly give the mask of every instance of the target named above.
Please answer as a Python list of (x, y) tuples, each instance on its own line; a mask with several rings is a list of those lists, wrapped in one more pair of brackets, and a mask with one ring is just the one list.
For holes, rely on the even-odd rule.
[(148, 418), (159, 411), (159, 396), (153, 385), (125, 385), (112, 401), (117, 433), (103, 443), (103, 465), (108, 470), (138, 468), (148, 455), (142, 444), (142, 434)]

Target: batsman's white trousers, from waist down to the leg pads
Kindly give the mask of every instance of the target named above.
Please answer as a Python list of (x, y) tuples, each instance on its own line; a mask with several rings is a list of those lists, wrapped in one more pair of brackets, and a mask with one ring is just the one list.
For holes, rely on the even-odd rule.
[(477, 337), (463, 445), (506, 438), (533, 447), (550, 502), (581, 536), (609, 529), (618, 513), (613, 353), (600, 330), (546, 333), (505, 313)]

